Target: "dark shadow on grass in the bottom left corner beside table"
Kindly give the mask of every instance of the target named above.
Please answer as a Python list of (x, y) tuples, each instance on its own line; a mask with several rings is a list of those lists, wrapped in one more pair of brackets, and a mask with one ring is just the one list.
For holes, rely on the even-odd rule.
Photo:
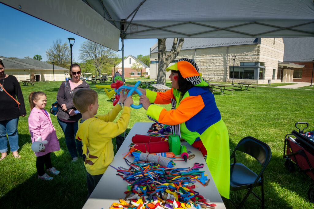
[[(35, 168), (36, 157), (29, 159), (34, 165), (34, 173), (28, 177), (30, 171), (23, 172), (23, 167), (14, 168), (15, 173), (24, 175), (24, 180), (21, 182), (19, 175), (12, 175), (10, 178), (16, 178), (12, 182), (17, 182), (17, 185), (7, 194), (0, 198), (3, 208), (82, 208), (87, 197), (86, 185), (86, 170), (83, 160), (71, 163), (71, 157), (68, 154), (68, 149), (64, 149), (61, 155), (56, 156), (51, 153), (52, 165), (61, 173), (53, 176), (51, 181), (44, 181), (38, 178)], [(62, 152), (62, 151), (58, 151)], [(23, 159), (19, 159), (23, 160)], [(79, 192), (78, 192), (79, 191)]]

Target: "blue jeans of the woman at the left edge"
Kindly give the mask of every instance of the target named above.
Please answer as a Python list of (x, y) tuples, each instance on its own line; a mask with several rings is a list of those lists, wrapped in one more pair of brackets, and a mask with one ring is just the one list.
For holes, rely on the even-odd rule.
[(8, 151), (8, 139), (11, 152), (15, 152), (19, 149), (19, 132), (18, 132), (19, 118), (11, 120), (0, 121), (0, 152), (4, 153)]

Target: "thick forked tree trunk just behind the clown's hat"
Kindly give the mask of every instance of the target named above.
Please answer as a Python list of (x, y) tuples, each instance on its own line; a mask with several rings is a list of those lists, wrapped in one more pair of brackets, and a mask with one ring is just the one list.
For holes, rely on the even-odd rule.
[(178, 56), (181, 47), (184, 42), (184, 38), (179, 39), (179, 43), (177, 45), (178, 38), (173, 39), (172, 47), (170, 53), (167, 55), (166, 50), (166, 39), (158, 39), (158, 75), (157, 75), (157, 84), (166, 83), (166, 68), (168, 65), (176, 59)]

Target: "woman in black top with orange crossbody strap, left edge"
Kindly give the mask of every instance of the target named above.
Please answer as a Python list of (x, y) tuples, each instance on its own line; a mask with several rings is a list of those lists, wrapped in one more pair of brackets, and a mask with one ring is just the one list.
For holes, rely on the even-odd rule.
[[(16, 77), (4, 73), (4, 65), (1, 60), (0, 83), (0, 160), (7, 156), (8, 141), (14, 158), (21, 158), (18, 153), (19, 133), (17, 127), (19, 117), (26, 115), (24, 98), (18, 80)], [(17, 98), (20, 104), (18, 105), (11, 96), (14, 99)]]

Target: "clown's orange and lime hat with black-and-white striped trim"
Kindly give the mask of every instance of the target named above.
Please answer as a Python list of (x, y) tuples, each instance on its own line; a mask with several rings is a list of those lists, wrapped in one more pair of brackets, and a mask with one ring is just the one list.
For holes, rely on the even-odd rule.
[(179, 71), (183, 78), (190, 81), (194, 86), (208, 86), (208, 83), (202, 78), (197, 64), (187, 58), (180, 59), (176, 64), (166, 68), (166, 71)]

